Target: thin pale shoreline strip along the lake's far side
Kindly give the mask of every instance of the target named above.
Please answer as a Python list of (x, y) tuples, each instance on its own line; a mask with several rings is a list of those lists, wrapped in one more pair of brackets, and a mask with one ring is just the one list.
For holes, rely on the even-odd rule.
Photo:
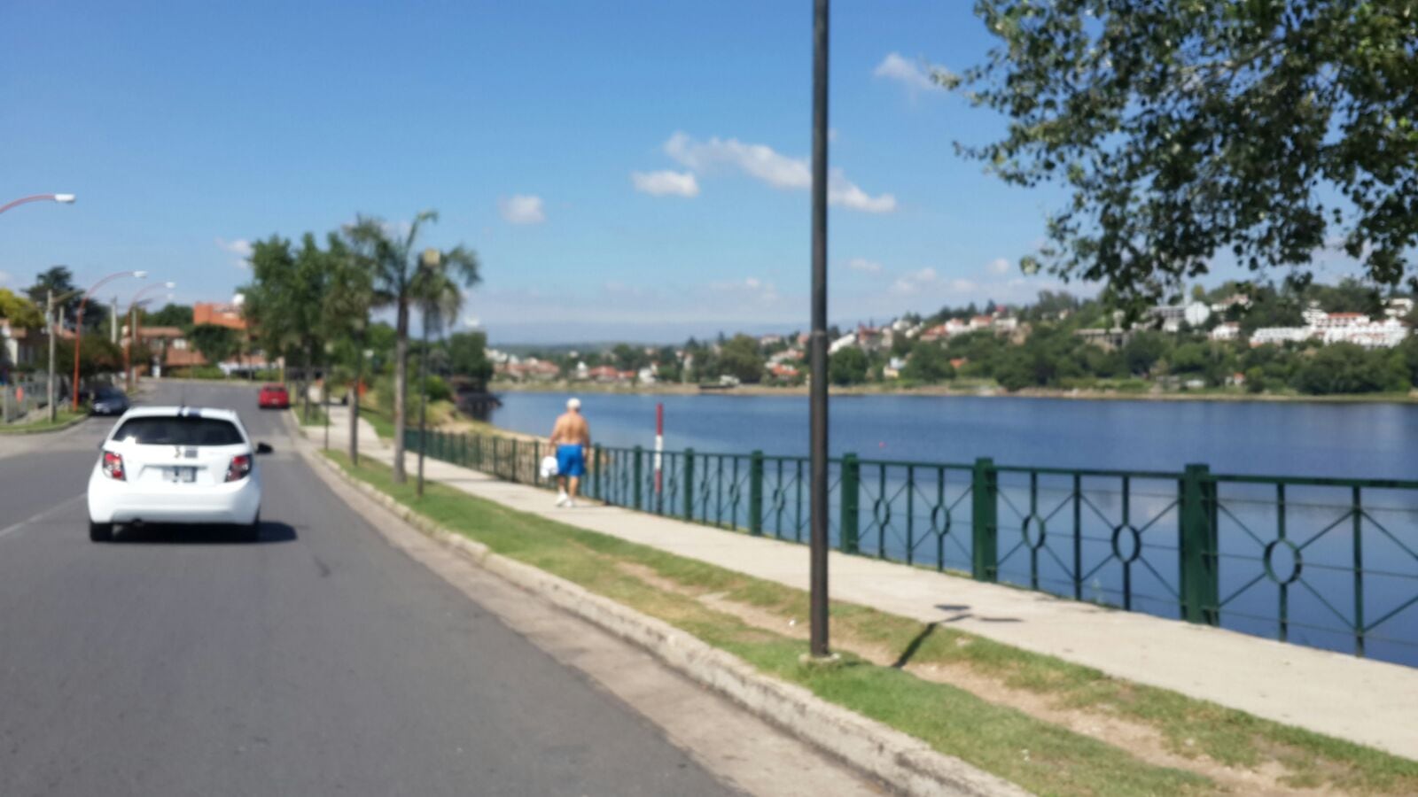
[[(614, 384), (600, 381), (492, 381), (492, 393), (581, 393), (613, 396), (778, 396), (805, 397), (807, 386), (777, 387), (766, 384), (740, 384), (723, 390), (700, 390), (698, 384)], [(1147, 391), (1130, 393), (1120, 390), (1059, 390), (1027, 389), (1010, 393), (998, 387), (951, 389), (946, 384), (920, 387), (891, 387), (865, 384), (852, 387), (831, 387), (834, 397), (851, 396), (929, 396), (959, 398), (1062, 398), (1071, 401), (1231, 401), (1231, 403), (1310, 403), (1310, 404), (1418, 404), (1418, 390), (1409, 393), (1347, 393), (1336, 396), (1283, 396), (1273, 393), (1212, 393), (1212, 391)]]

